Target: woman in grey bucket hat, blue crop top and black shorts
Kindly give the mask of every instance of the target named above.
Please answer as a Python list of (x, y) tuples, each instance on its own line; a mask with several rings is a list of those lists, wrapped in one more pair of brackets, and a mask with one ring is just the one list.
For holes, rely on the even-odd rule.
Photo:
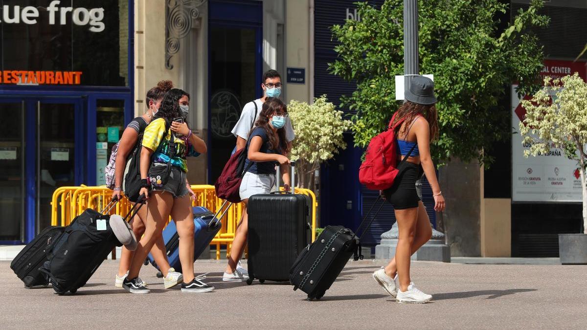
[(382, 196), (393, 205), (399, 237), (396, 256), (386, 267), (373, 273), (373, 278), (397, 302), (421, 304), (432, 296), (420, 291), (411, 282), (410, 257), (432, 237), (430, 219), (416, 191), (416, 181), (426, 174), (434, 196), (434, 210), (444, 211), (445, 203), (438, 185), (430, 142), (438, 138), (438, 121), (431, 79), (416, 76), (406, 91), (406, 103), (397, 110), (390, 126), (397, 124), (396, 136), (401, 159), (399, 174), (393, 186)]

